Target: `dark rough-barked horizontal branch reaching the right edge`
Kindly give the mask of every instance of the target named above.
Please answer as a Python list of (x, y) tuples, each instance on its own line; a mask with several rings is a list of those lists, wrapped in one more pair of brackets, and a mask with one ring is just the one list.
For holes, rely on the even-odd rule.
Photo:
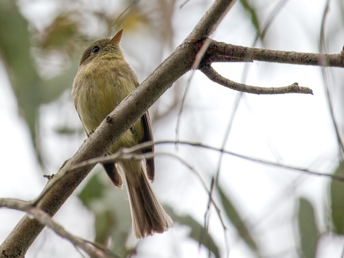
[(341, 54), (329, 55), (256, 49), (213, 40), (204, 60), (215, 62), (219, 57), (222, 59), (225, 57), (239, 58), (245, 60), (245, 62), (256, 60), (284, 64), (344, 67), (344, 55)]

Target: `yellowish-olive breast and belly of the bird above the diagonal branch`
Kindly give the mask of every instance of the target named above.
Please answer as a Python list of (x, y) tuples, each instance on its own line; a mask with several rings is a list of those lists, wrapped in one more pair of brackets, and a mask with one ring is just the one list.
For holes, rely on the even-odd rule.
[(137, 77), (124, 60), (124, 65), (106, 61), (79, 68), (74, 79), (72, 96), (87, 133), (95, 130), (136, 88)]

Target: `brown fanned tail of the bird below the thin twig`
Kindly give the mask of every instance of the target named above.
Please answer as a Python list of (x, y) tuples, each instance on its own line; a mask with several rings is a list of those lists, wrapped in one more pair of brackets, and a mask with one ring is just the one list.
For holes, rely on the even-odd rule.
[(120, 162), (130, 200), (132, 228), (136, 238), (163, 233), (173, 221), (159, 203), (142, 162)]

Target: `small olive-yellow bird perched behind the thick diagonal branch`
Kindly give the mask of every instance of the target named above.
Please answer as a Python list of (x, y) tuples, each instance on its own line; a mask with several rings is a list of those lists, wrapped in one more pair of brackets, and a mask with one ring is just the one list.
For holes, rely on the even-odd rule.
[[(90, 45), (82, 54), (72, 89), (75, 108), (87, 137), (115, 109), (118, 103), (139, 85), (138, 79), (125, 61), (119, 42), (123, 29)], [(121, 147), (132, 147), (153, 140), (148, 112), (138, 119), (107, 154)], [(153, 153), (154, 147), (142, 153)], [(144, 166), (144, 163), (146, 166)], [(133, 233), (144, 238), (163, 233), (173, 227), (173, 221), (157, 200), (148, 179), (154, 181), (154, 158), (141, 161), (119, 161), (130, 200)], [(102, 164), (112, 183), (122, 188), (122, 178), (115, 163)], [(119, 207), (120, 208), (120, 207)]]

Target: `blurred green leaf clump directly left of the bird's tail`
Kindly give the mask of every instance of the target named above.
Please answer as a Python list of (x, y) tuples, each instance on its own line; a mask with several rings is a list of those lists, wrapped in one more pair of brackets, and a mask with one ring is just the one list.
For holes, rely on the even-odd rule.
[(120, 257), (127, 257), (135, 252), (126, 246), (132, 234), (127, 191), (119, 191), (109, 182), (105, 172), (99, 171), (89, 179), (78, 197), (95, 214), (96, 242), (104, 245), (111, 238), (111, 250)]

